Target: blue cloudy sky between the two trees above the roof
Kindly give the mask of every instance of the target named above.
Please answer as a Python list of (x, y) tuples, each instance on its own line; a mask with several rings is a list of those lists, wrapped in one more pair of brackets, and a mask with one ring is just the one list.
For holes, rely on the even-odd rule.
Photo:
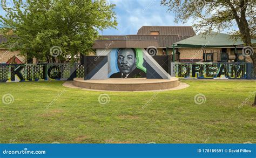
[(160, 0), (107, 0), (116, 4), (117, 30), (107, 29), (103, 35), (131, 35), (137, 34), (142, 26), (191, 26), (192, 21), (185, 24), (174, 23), (173, 13), (160, 5)]

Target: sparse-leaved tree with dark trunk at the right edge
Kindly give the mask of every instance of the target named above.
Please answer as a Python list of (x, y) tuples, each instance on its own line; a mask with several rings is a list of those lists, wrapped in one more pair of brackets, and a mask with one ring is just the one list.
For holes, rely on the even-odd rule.
[[(229, 29), (233, 32), (233, 37), (242, 39), (245, 46), (252, 46), (251, 38), (256, 34), (254, 0), (161, 0), (161, 5), (167, 6), (169, 11), (175, 13), (176, 22), (185, 23), (192, 18), (196, 21), (194, 26), (200, 33)], [(238, 26), (239, 31), (233, 30), (234, 25)], [(256, 53), (251, 51), (250, 55), (256, 74)]]

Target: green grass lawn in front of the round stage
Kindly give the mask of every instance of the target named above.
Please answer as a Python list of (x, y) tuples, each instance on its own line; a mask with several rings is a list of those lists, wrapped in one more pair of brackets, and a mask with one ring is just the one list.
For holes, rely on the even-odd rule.
[[(62, 81), (2, 83), (1, 99), (9, 93), (14, 102), (0, 101), (0, 142), (256, 143), (255, 80), (185, 82), (184, 90), (157, 93), (84, 91)], [(104, 93), (110, 100), (101, 105)], [(198, 93), (204, 104), (194, 102)]]

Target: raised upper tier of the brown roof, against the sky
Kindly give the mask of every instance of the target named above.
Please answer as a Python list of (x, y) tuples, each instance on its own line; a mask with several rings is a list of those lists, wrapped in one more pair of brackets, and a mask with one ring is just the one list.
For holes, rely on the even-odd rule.
[(159, 35), (196, 35), (192, 26), (142, 26), (137, 35), (150, 35), (151, 31), (159, 31)]

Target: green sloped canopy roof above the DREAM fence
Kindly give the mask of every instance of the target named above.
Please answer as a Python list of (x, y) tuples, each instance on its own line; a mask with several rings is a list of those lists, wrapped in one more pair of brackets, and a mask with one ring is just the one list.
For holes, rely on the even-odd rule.
[[(193, 36), (180, 42), (174, 43), (175, 47), (227, 47), (244, 45), (241, 39), (236, 42), (230, 38), (230, 35), (219, 32), (211, 32), (210, 35), (197, 35)], [(256, 40), (252, 39), (252, 44), (256, 44)], [(170, 46), (172, 47), (172, 46)]]

